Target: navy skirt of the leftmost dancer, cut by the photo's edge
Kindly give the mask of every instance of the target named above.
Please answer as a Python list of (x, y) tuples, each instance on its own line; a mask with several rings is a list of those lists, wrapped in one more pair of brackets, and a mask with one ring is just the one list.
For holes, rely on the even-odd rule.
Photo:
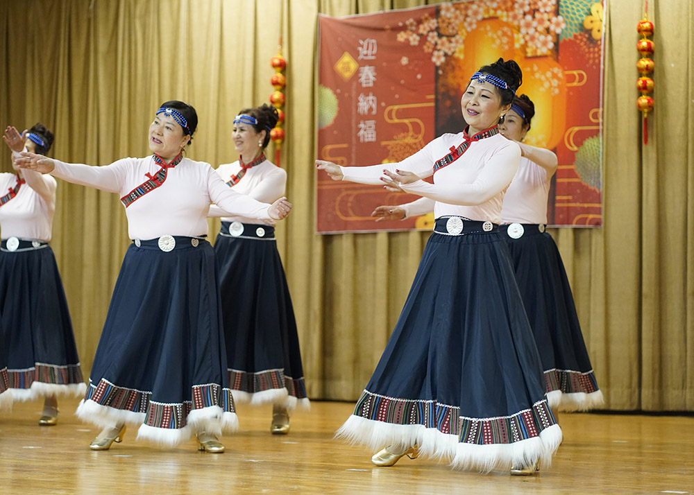
[(15, 400), (79, 397), (85, 383), (56, 257), (47, 243), (0, 244), (0, 314)]

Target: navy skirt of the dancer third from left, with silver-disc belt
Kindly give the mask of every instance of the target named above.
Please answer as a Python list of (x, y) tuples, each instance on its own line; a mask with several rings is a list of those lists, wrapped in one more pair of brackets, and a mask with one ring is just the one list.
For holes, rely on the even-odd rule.
[[(307, 406), (294, 309), (274, 227), (223, 222), (214, 251), (237, 401)], [(242, 228), (242, 230), (241, 230)], [(237, 230), (238, 229), (238, 230)]]

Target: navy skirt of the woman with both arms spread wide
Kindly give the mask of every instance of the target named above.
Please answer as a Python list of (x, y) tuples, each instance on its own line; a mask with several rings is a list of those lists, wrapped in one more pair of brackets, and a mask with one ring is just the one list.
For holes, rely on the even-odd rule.
[(77, 412), (99, 426), (141, 425), (138, 437), (167, 446), (237, 424), (214, 250), (175, 240), (169, 252), (158, 239), (128, 248)]

